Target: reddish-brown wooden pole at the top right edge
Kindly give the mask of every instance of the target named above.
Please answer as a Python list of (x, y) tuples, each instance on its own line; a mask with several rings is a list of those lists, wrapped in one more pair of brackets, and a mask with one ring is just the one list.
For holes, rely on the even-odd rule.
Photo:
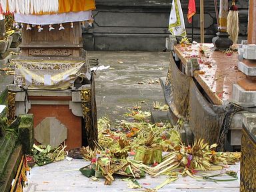
[(255, 0), (249, 0), (249, 21), (248, 21), (248, 36), (247, 40), (249, 44), (256, 44), (256, 2)]

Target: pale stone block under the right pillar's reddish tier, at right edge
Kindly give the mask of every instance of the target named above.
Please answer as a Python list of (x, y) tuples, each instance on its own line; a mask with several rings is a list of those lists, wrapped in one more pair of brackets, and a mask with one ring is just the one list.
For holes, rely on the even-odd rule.
[(243, 105), (256, 105), (256, 91), (245, 91), (237, 84), (233, 84), (233, 100)]

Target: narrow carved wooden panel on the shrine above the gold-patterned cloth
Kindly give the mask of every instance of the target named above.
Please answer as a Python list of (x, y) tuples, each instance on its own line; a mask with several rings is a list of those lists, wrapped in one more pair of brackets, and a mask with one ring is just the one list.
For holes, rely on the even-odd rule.
[(71, 49), (29, 49), (29, 55), (33, 56), (69, 56)]

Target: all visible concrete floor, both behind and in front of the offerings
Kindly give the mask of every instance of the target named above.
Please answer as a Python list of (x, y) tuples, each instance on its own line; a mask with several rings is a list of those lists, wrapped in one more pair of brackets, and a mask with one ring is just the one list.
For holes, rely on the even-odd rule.
[[(153, 101), (164, 104), (161, 85), (149, 84), (159, 77), (166, 77), (169, 66), (169, 53), (155, 52), (89, 52), (90, 57), (99, 58), (100, 65), (110, 65), (110, 69), (97, 71), (95, 78), (98, 117), (107, 116), (112, 121), (123, 119), (123, 114), (139, 103), (144, 111), (153, 109)], [(145, 84), (138, 84), (144, 82)], [(141, 103), (141, 101), (144, 101)], [(116, 178), (113, 185), (104, 185), (81, 175), (79, 168), (88, 165), (81, 159), (59, 161), (43, 167), (33, 167), (29, 185), (25, 192), (31, 191), (143, 191), (129, 189), (127, 182)], [(239, 170), (239, 165), (231, 167)], [(239, 175), (239, 173), (238, 173)], [(166, 177), (139, 179), (146, 188), (154, 188)], [(239, 180), (230, 182), (195, 181), (191, 177), (179, 178), (159, 191), (239, 191)]]

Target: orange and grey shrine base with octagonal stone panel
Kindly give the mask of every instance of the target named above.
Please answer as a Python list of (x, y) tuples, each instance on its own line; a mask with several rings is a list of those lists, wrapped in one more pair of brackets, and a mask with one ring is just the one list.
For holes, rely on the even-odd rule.
[(15, 85), (9, 85), (9, 95), (10, 93), (15, 97), (15, 103), (9, 103), (9, 107), (15, 106), (13, 116), (21, 113), (34, 115), (37, 144), (55, 143), (56, 147), (65, 141), (67, 150), (83, 145), (83, 108), (79, 90), (25, 91), (19, 90)]

